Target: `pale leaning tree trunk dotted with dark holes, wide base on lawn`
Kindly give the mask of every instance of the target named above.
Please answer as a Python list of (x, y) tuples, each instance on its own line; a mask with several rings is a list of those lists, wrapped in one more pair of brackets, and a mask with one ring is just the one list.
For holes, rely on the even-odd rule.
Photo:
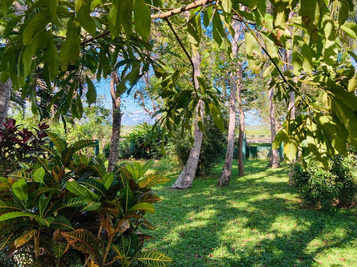
[[(200, 70), (200, 52), (197, 52), (196, 56), (192, 58), (193, 62), (193, 80), (195, 83), (195, 88), (198, 88), (198, 81), (197, 76), (201, 75)], [(197, 124), (197, 112), (198, 106), (201, 107), (201, 117), (203, 119), (203, 102), (200, 100), (196, 107), (196, 121), (195, 121), (195, 134), (193, 136), (193, 145), (191, 147), (190, 156), (186, 162), (185, 168), (181, 172), (180, 176), (176, 179), (175, 183), (172, 185), (171, 188), (175, 189), (184, 189), (190, 188), (192, 185), (193, 178), (195, 178), (198, 159), (200, 158), (200, 151), (201, 151), (201, 144), (202, 144), (202, 136), (203, 133), (200, 131), (200, 128)]]

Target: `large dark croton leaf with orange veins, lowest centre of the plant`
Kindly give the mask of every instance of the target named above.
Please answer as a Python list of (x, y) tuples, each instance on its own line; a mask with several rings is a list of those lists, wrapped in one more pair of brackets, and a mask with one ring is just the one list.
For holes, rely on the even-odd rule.
[(88, 230), (77, 229), (71, 232), (61, 232), (62, 236), (75, 249), (99, 258), (99, 240)]

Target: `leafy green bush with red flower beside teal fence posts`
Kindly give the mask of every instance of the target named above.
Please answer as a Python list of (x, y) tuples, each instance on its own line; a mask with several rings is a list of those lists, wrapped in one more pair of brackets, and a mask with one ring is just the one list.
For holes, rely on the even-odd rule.
[(127, 156), (128, 143), (132, 147), (132, 156), (134, 158), (156, 158), (162, 156), (160, 147), (161, 133), (162, 131), (159, 130), (157, 135), (152, 135), (152, 126), (150, 124), (147, 122), (139, 124), (129, 135), (124, 137), (127, 143), (120, 144), (122, 156)]

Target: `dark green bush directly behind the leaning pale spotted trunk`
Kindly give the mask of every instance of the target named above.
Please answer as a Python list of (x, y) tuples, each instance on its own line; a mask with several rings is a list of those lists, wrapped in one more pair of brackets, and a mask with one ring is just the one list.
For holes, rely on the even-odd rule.
[[(224, 121), (227, 126), (227, 121)], [(227, 132), (222, 132), (213, 123), (211, 117), (204, 118), (205, 132), (207, 139), (203, 136), (200, 159), (196, 169), (197, 176), (207, 175), (212, 167), (216, 166), (225, 156), (227, 148)], [(180, 136), (180, 133), (177, 133)], [(165, 150), (167, 156), (172, 162), (177, 162), (178, 165), (184, 166), (190, 156), (191, 143), (188, 136), (183, 138), (172, 138), (167, 141)]]

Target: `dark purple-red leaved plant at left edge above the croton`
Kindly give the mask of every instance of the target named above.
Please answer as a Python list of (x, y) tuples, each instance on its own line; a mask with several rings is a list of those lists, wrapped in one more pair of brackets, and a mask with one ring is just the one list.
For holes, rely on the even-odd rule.
[(20, 127), (15, 119), (6, 119), (0, 127), (0, 175), (26, 167), (44, 155), (41, 145), (46, 142), (49, 126), (42, 123), (38, 124), (38, 129), (32, 127), (36, 133)]

